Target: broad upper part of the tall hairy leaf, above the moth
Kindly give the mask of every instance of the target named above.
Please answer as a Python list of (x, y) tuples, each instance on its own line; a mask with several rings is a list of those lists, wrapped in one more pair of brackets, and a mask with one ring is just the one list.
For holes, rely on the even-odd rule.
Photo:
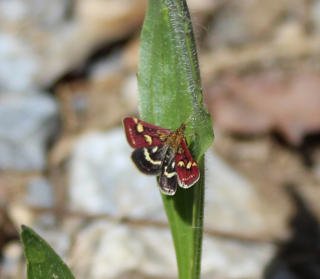
[(138, 92), (142, 120), (176, 129), (190, 118), (186, 133), (197, 135), (192, 149), (198, 160), (214, 135), (211, 116), (202, 105), (196, 43), (184, 0), (149, 0), (141, 32)]

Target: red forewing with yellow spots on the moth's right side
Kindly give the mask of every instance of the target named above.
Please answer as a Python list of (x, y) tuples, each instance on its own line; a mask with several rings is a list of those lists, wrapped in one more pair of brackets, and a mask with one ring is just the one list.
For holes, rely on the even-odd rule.
[(175, 155), (178, 183), (182, 188), (189, 188), (199, 180), (200, 172), (184, 140), (181, 141), (181, 148), (183, 152)]

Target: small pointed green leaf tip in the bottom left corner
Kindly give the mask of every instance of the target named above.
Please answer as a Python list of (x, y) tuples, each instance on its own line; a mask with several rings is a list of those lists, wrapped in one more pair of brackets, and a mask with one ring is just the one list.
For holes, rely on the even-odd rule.
[(75, 279), (63, 260), (31, 228), (22, 225), (20, 237), (28, 264), (28, 279)]

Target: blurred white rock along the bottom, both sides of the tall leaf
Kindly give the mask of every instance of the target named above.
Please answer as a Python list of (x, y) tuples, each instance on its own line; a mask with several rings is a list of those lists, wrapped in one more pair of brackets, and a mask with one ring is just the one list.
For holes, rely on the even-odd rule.
[[(178, 276), (169, 227), (95, 220), (77, 234), (73, 247), (67, 262), (79, 279), (111, 279), (130, 270), (148, 276)], [(260, 278), (272, 253), (268, 244), (204, 235), (202, 277)]]

